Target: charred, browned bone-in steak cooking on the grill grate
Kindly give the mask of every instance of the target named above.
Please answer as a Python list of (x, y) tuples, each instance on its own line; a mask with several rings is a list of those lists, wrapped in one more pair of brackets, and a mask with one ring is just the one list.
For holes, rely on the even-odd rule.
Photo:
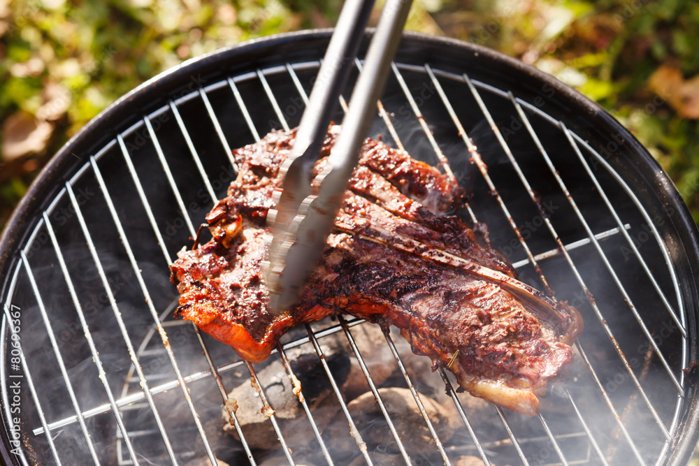
[[(331, 127), (322, 157), (338, 131)], [(463, 203), (452, 180), (379, 141), (363, 144), (336, 231), (301, 300), (282, 316), (268, 312), (266, 215), (293, 142), (294, 131), (273, 131), (233, 152), (238, 177), (206, 217), (212, 240), (183, 249), (172, 265), (177, 312), (251, 362), (264, 360), (289, 328), (331, 314), (394, 325), (461, 388), (536, 414), (537, 397), (572, 359), (579, 313), (519, 282), (487, 235), (449, 214)]]

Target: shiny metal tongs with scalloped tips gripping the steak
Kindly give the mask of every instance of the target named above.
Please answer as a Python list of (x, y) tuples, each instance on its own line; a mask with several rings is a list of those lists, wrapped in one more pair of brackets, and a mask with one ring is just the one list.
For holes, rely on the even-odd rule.
[(280, 168), (282, 189), (275, 191), (276, 209), (268, 213), (273, 239), (267, 287), (270, 312), (280, 316), (298, 300), (318, 263), (340, 208), (349, 177), (359, 161), (361, 143), (369, 131), (376, 105), (386, 85), (412, 0), (387, 0), (366, 53), (342, 129), (328, 163), (311, 175), (331, 117), (359, 49), (373, 0), (347, 0), (326, 50), (291, 155)]

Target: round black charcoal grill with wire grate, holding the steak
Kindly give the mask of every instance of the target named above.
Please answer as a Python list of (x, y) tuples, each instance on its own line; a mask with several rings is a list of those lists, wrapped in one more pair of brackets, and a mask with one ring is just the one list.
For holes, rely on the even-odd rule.
[[(395, 368), (379, 377), (368, 361), (380, 351), (357, 338), (370, 325), (356, 319), (297, 328), (253, 366), (173, 318), (168, 264), (225, 195), (231, 149), (298, 124), (329, 37), (286, 34), (189, 61), (96, 117), (41, 173), (0, 243), (3, 460), (686, 464), (698, 433), (696, 226), (612, 117), (474, 45), (406, 34), (372, 136), (453, 173), (471, 194), (459, 213), (487, 224), (524, 282), (582, 312), (570, 379), (539, 416), (456, 393), (393, 334), (380, 344)], [(357, 61), (348, 89), (360, 72)], [(331, 357), (331, 339), (345, 353)], [(352, 364), (376, 416), (358, 415), (343, 391)], [(224, 434), (226, 393), (251, 377), (254, 403), (233, 413), (237, 438)], [(268, 395), (293, 377), (305, 402), (291, 426)], [(391, 386), (417, 421), (384, 395)], [(330, 421), (313, 401), (319, 387)], [(433, 401), (454, 414), (448, 428)], [(273, 440), (260, 445), (240, 419), (266, 405)]]

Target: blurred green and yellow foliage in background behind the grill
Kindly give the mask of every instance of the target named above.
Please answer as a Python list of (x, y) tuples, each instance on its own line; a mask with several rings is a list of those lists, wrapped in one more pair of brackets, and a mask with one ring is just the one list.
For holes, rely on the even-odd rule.
[[(0, 227), (51, 154), (140, 82), (224, 45), (329, 27), (341, 4), (0, 0)], [(698, 120), (682, 107), (696, 92), (699, 108), (699, 85), (682, 82), (688, 95), (666, 101), (648, 84), (663, 65), (699, 73), (699, 3), (416, 0), (408, 29), (500, 50), (577, 87), (649, 148), (699, 221)], [(22, 131), (38, 143), (13, 154)]]

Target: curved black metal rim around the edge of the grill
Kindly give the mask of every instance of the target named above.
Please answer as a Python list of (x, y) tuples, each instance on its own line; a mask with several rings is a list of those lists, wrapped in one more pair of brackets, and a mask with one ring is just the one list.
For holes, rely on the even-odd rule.
[[(87, 156), (115, 138), (117, 133), (127, 129), (136, 120), (152, 110), (164, 105), (169, 99), (188, 94), (199, 87), (199, 82), (220, 80), (234, 75), (240, 69), (249, 69), (254, 65), (259, 68), (277, 65), (285, 61), (310, 61), (322, 57), (332, 29), (297, 31), (287, 34), (254, 39), (240, 45), (222, 48), (201, 57), (185, 61), (164, 73), (144, 82), (122, 98), (103, 110), (64, 145), (48, 165), (31, 183), (27, 194), (15, 208), (2, 235), (0, 236), (0, 298), (6, 300), (10, 284), (10, 270), (19, 260), (18, 249), (27, 240), (28, 235), (38, 222), (41, 212), (51, 199), (62, 189), (75, 170), (87, 162)], [(367, 33), (367, 39), (371, 31)], [(359, 55), (366, 51), (368, 40), (361, 46)], [(312, 53), (311, 53), (312, 51)], [(311, 54), (313, 55), (310, 58)], [(567, 121), (581, 121), (584, 126), (594, 127), (589, 134), (579, 133), (584, 139), (612, 141), (612, 135), (624, 139), (625, 144), (612, 153), (608, 159), (614, 163), (620, 156), (630, 155), (630, 165), (624, 165), (624, 175), (631, 187), (650, 187), (638, 189), (635, 193), (642, 202), (658, 201), (672, 214), (669, 221), (658, 227), (661, 233), (670, 233), (675, 242), (675, 255), (686, 257), (686, 264), (678, 268), (682, 280), (683, 300), (687, 307), (687, 332), (689, 337), (688, 361), (699, 359), (697, 337), (699, 335), (699, 231), (685, 205), (679, 191), (658, 165), (649, 152), (627, 131), (614, 117), (600, 105), (590, 101), (575, 89), (564, 85), (551, 75), (542, 73), (517, 59), (480, 45), (465, 43), (452, 38), (429, 36), (406, 32), (401, 41), (401, 49), (396, 56), (397, 62), (433, 63), (439, 62), (439, 68), (445, 71), (463, 73), (466, 68), (477, 80), (489, 82), (488, 77), (497, 77), (500, 82), (510, 82), (510, 89), (517, 89), (517, 96), (527, 99), (540, 95), (542, 90), (554, 91), (556, 106), (567, 112)], [(473, 72), (468, 62), (477, 63)], [(450, 65), (452, 64), (452, 65)], [(451, 69), (450, 69), (451, 66)], [(548, 86), (548, 87), (547, 87)], [(520, 92), (524, 92), (524, 96)], [(135, 111), (134, 111), (135, 110)], [(614, 156), (619, 153), (619, 156)], [(667, 235), (665, 235), (667, 237)], [(672, 252), (672, 250), (671, 250)], [(677, 264), (675, 264), (677, 265)], [(5, 317), (2, 319), (0, 337), (2, 344), (7, 344), (8, 329)], [(684, 419), (677, 426), (677, 435), (672, 439), (670, 455), (666, 458), (668, 465), (686, 465), (691, 459), (699, 439), (699, 370), (693, 370), (686, 380), (682, 409), (679, 412)], [(3, 412), (6, 407), (2, 407)], [(10, 453), (8, 425), (4, 421), (0, 432), (0, 457), (6, 464), (13, 464)]]

